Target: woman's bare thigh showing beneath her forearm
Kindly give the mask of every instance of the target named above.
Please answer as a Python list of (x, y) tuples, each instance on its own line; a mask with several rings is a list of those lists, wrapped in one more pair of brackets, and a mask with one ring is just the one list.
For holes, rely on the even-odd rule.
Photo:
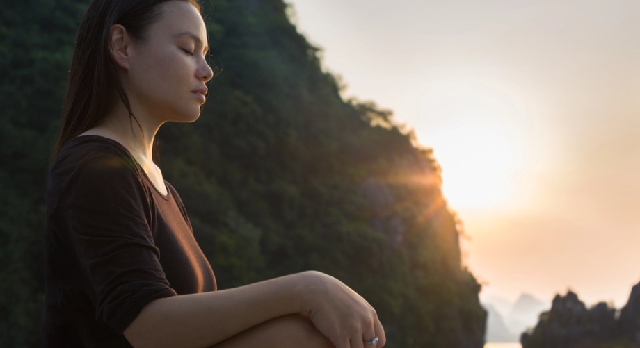
[(254, 326), (211, 348), (335, 348), (302, 315), (285, 315)]

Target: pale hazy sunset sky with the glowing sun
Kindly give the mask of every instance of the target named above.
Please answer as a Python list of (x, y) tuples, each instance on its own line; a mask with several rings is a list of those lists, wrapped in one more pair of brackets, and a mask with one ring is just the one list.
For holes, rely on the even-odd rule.
[(640, 282), (640, 1), (287, 0), (345, 97), (442, 165), (481, 297)]

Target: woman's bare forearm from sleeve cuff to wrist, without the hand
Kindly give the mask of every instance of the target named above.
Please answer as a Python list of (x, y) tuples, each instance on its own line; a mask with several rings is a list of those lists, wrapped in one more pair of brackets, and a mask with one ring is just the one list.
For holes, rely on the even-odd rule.
[(125, 330), (134, 347), (210, 347), (282, 315), (300, 313), (310, 273), (240, 288), (157, 299)]

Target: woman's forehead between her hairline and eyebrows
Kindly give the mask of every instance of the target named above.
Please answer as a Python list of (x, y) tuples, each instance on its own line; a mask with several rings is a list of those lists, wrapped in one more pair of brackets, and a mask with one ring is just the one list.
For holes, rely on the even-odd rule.
[(193, 33), (207, 43), (207, 29), (198, 10), (187, 1), (168, 1), (162, 6), (160, 19), (150, 27), (151, 35), (175, 36)]

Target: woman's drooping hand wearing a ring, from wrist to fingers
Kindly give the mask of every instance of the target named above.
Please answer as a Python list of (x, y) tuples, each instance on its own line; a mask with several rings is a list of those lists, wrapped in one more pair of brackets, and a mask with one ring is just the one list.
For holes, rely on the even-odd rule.
[[(305, 272), (302, 313), (336, 348), (377, 348), (386, 342), (376, 310), (357, 292), (321, 272)], [(378, 343), (365, 343), (378, 337)]]

